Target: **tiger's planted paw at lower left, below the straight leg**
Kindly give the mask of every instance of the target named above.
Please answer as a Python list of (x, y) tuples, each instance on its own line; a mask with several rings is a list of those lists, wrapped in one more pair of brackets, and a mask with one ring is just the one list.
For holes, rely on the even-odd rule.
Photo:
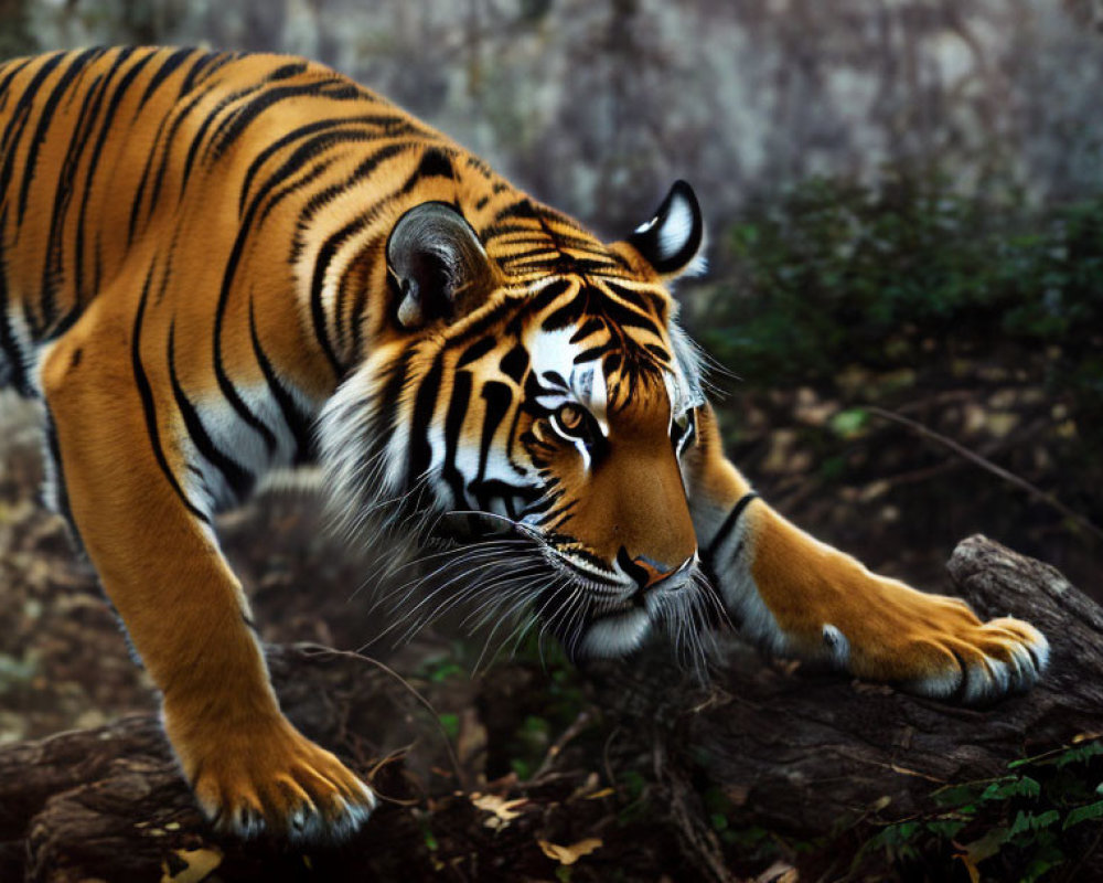
[(242, 838), (336, 843), (367, 821), (376, 798), (333, 754), (282, 719), (199, 751), (178, 751), (215, 829)]

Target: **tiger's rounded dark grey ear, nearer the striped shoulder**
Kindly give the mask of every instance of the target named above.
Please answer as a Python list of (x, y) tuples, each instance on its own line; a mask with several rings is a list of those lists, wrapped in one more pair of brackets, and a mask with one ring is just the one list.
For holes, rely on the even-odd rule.
[(387, 273), (398, 291), (398, 321), (411, 329), (465, 316), (493, 279), (479, 236), (445, 202), (422, 202), (398, 219), (387, 237)]

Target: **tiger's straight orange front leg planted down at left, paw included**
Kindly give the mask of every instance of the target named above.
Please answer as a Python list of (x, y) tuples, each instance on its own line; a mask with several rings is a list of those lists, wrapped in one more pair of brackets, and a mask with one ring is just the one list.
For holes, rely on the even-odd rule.
[(43, 389), (61, 492), (161, 690), (165, 733), (219, 829), (341, 839), (375, 798), (280, 712), (240, 585), (189, 493), (160, 341), (139, 341), (142, 306), (137, 325), (103, 306), (54, 344)]

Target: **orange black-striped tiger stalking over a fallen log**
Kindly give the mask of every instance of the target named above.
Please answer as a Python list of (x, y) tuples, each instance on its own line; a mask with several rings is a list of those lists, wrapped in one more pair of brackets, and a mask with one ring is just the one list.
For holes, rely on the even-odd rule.
[(1031, 625), (871, 573), (725, 456), (672, 294), (705, 241), (686, 182), (606, 243), (275, 54), (11, 60), (0, 130), (0, 385), (42, 404), (47, 496), (217, 830), (338, 841), (376, 804), (281, 713), (219, 551), (215, 515), (286, 467), (318, 464), (353, 529), (496, 555), (490, 591), (575, 659), (728, 620), (947, 701), (1045, 670)]

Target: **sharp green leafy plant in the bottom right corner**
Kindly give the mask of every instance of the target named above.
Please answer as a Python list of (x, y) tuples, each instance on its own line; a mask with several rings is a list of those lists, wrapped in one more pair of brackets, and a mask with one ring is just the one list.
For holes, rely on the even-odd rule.
[[(1016, 760), (997, 779), (967, 781), (934, 792), (941, 811), (892, 822), (864, 844), (858, 860), (881, 855), (904, 871), (957, 861), (974, 880), (1041, 880), (1068, 870), (1084, 853), (1103, 819), (1103, 741), (1099, 738)], [(946, 870), (949, 877), (950, 872)]]

